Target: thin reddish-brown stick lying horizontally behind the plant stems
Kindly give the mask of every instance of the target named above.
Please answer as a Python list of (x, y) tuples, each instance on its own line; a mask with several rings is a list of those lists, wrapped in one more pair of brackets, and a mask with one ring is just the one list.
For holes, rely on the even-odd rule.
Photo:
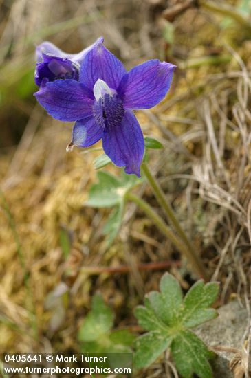
[[(138, 265), (138, 270), (139, 271), (153, 271), (153, 270), (165, 270), (168, 267), (175, 266), (175, 267), (180, 267), (181, 261), (160, 261), (156, 263), (148, 263), (148, 264), (140, 264)], [(83, 267), (81, 268), (81, 272), (85, 274), (90, 274), (90, 275), (98, 275), (102, 273), (106, 274), (125, 274), (129, 273), (131, 271), (131, 267), (127, 265), (120, 265), (118, 267)]]

